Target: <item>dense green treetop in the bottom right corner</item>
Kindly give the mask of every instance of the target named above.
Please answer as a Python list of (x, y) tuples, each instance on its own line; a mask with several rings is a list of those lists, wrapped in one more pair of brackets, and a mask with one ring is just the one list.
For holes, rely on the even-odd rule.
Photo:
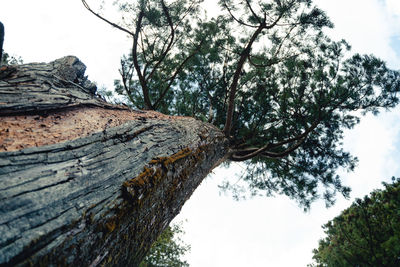
[(316, 266), (400, 265), (400, 179), (383, 185), (323, 226)]

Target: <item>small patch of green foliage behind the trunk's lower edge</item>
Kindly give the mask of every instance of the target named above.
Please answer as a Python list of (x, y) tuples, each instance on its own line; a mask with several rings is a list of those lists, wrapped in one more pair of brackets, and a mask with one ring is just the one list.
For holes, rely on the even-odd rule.
[(180, 239), (183, 234), (182, 226), (175, 224), (168, 226), (150, 248), (139, 267), (186, 267), (189, 264), (182, 260), (182, 256), (190, 250)]

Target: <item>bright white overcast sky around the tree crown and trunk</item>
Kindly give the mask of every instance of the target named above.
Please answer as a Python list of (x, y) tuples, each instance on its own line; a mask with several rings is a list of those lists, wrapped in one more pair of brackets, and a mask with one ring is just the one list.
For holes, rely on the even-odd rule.
[[(88, 1), (90, 3), (90, 1)], [(400, 70), (399, 0), (317, 0), (335, 24), (332, 38), (344, 38), (352, 52), (374, 54)], [(89, 79), (112, 89), (119, 61), (129, 51), (125, 34), (84, 9), (80, 0), (0, 0), (5, 25), (4, 50), (24, 62), (48, 62), (75, 55), (87, 66)], [(214, 2), (207, 0), (207, 9)], [(343, 183), (350, 200), (338, 196), (326, 209), (317, 201), (309, 212), (285, 196), (234, 201), (217, 187), (235, 179), (239, 164), (217, 168), (207, 177), (175, 219), (185, 221), (183, 239), (190, 244), (186, 259), (192, 267), (306, 266), (322, 238), (321, 225), (339, 215), (356, 197), (382, 188), (382, 181), (400, 177), (400, 108), (367, 115), (346, 131), (344, 147), (359, 158)]]

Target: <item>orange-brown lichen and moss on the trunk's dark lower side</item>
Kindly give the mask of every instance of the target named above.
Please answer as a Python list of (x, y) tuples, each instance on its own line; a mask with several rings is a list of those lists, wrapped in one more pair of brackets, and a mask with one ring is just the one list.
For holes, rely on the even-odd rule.
[[(173, 207), (182, 197), (181, 192), (186, 190), (185, 187), (193, 186), (188, 179), (199, 170), (199, 163), (207, 155), (209, 146), (205, 144), (194, 149), (182, 149), (168, 157), (152, 159), (140, 174), (123, 183), (123, 201), (116, 202), (112, 209), (102, 215), (96, 230), (103, 232), (105, 239), (120, 238), (121, 242), (132, 244), (135, 253), (147, 251), (151, 245), (149, 240), (153, 240), (165, 227), (166, 220), (170, 219), (165, 217), (165, 210)], [(184, 199), (189, 196), (184, 196)], [(127, 220), (128, 228), (125, 227)], [(104, 263), (107, 265), (108, 261), (117, 261), (118, 258), (119, 254), (114, 254), (112, 258), (106, 258)]]

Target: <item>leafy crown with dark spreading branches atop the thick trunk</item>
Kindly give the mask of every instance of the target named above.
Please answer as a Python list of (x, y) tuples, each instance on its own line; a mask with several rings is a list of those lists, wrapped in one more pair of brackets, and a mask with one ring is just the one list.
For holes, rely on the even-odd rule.
[[(320, 185), (327, 205), (337, 192), (347, 197), (337, 170), (357, 159), (341, 148), (343, 130), (399, 102), (399, 72), (372, 55), (347, 55), (345, 41), (324, 34), (333, 24), (312, 0), (220, 0), (223, 14), (212, 19), (200, 17), (201, 1), (121, 0), (121, 24), (82, 2), (133, 39), (117, 92), (136, 107), (219, 127), (228, 161), (247, 166), (252, 195), (278, 192), (305, 208)], [(235, 190), (229, 181), (224, 188)]]

